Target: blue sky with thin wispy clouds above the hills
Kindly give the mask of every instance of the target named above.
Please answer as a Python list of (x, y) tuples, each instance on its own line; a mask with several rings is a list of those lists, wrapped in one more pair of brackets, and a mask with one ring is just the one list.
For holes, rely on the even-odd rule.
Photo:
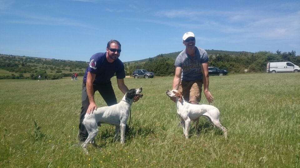
[(300, 1), (0, 0), (0, 53), (89, 61), (109, 40), (123, 62), (196, 46), (228, 51), (296, 51)]

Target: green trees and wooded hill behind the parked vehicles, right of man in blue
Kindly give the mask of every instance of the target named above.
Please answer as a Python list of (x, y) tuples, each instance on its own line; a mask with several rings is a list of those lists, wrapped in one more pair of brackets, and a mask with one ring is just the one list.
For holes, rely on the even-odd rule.
[[(179, 54), (180, 52), (174, 53)], [(124, 63), (126, 75), (132, 75), (135, 69), (147, 69), (154, 72), (155, 76), (173, 76), (175, 74), (174, 54), (165, 57), (165, 54), (159, 54), (154, 58), (149, 58), (144, 63), (133, 62)], [(300, 56), (296, 56), (296, 51), (276, 53), (259, 51), (257, 53), (241, 52), (237, 55), (230, 54), (209, 54), (209, 66), (226, 69), (229, 73), (245, 72), (266, 72), (268, 62), (292, 62), (300, 65)]]

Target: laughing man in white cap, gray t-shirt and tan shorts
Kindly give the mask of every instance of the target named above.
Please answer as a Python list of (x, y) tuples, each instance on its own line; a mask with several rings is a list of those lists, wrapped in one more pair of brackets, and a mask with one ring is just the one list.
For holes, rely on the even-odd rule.
[(175, 76), (172, 89), (182, 92), (183, 98), (191, 104), (201, 100), (202, 84), (204, 95), (209, 103), (213, 96), (208, 91), (208, 56), (204, 49), (195, 46), (195, 35), (187, 32), (183, 35), (185, 49), (175, 60)]

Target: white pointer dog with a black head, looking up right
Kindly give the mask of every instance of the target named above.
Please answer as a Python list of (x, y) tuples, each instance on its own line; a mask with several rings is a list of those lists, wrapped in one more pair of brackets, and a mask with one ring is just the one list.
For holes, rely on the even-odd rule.
[(130, 107), (133, 103), (133, 97), (135, 95), (143, 97), (143, 94), (140, 94), (141, 92), (142, 88), (130, 89), (126, 92), (123, 99), (118, 104), (100, 107), (97, 108), (97, 110), (94, 110), (91, 114), (85, 114), (82, 123), (88, 131), (88, 138), (85, 142), (83, 142), (81, 147), (86, 153), (88, 153), (88, 143), (91, 142), (94, 146), (97, 146), (95, 143), (95, 137), (99, 131), (98, 125), (101, 126), (100, 124), (102, 123), (116, 126), (114, 141), (118, 139), (121, 128), (121, 143), (125, 142), (125, 127)]

